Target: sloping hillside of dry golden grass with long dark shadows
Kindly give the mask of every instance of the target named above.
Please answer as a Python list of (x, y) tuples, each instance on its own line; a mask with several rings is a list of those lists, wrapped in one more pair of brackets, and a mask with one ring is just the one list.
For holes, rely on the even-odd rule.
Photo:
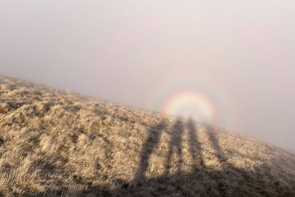
[(295, 196), (295, 156), (0, 75), (2, 196)]

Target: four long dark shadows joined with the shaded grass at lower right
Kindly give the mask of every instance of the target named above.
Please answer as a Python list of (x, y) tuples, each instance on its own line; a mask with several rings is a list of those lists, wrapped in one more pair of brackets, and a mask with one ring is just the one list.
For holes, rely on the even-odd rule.
[[(162, 132), (163, 124), (160, 123)], [(187, 128), (187, 143), (191, 154), (192, 167), (190, 170), (182, 169), (182, 142), (184, 128)], [(159, 132), (158, 129), (153, 129)], [(152, 132), (152, 131), (149, 131)], [(160, 133), (162, 133), (160, 132)], [(272, 163), (256, 165), (253, 169), (237, 167), (227, 161), (226, 154), (219, 145), (217, 132), (212, 127), (205, 131), (211, 147), (212, 156), (217, 158), (214, 162), (220, 164), (220, 168), (205, 165), (198, 134), (200, 133), (193, 120), (189, 119), (186, 124), (178, 118), (175, 121), (170, 135), (167, 167), (165, 173), (156, 178), (148, 178), (144, 173), (148, 170), (148, 158), (159, 143), (158, 134), (149, 134), (148, 141), (143, 146), (139, 169), (135, 173), (132, 185), (126, 189), (114, 191), (113, 196), (294, 196), (295, 186), (290, 183), (279, 181), (269, 173)], [(151, 143), (151, 144), (150, 144)], [(185, 143), (185, 142), (184, 142)], [(149, 147), (149, 148), (148, 148)], [(207, 151), (208, 152), (208, 151)], [(209, 154), (209, 153), (206, 153)], [(172, 156), (176, 157), (172, 157)], [(213, 156), (214, 155), (214, 156)], [(176, 172), (176, 173), (175, 173)], [(136, 183), (137, 182), (137, 183)], [(140, 183), (140, 184), (139, 184)], [(124, 191), (122, 193), (122, 191)]]

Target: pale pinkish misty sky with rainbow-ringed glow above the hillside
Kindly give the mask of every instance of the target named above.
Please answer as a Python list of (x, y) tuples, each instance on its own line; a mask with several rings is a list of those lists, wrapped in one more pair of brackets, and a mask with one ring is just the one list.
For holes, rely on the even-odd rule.
[(295, 150), (295, 1), (0, 1), (0, 73)]

